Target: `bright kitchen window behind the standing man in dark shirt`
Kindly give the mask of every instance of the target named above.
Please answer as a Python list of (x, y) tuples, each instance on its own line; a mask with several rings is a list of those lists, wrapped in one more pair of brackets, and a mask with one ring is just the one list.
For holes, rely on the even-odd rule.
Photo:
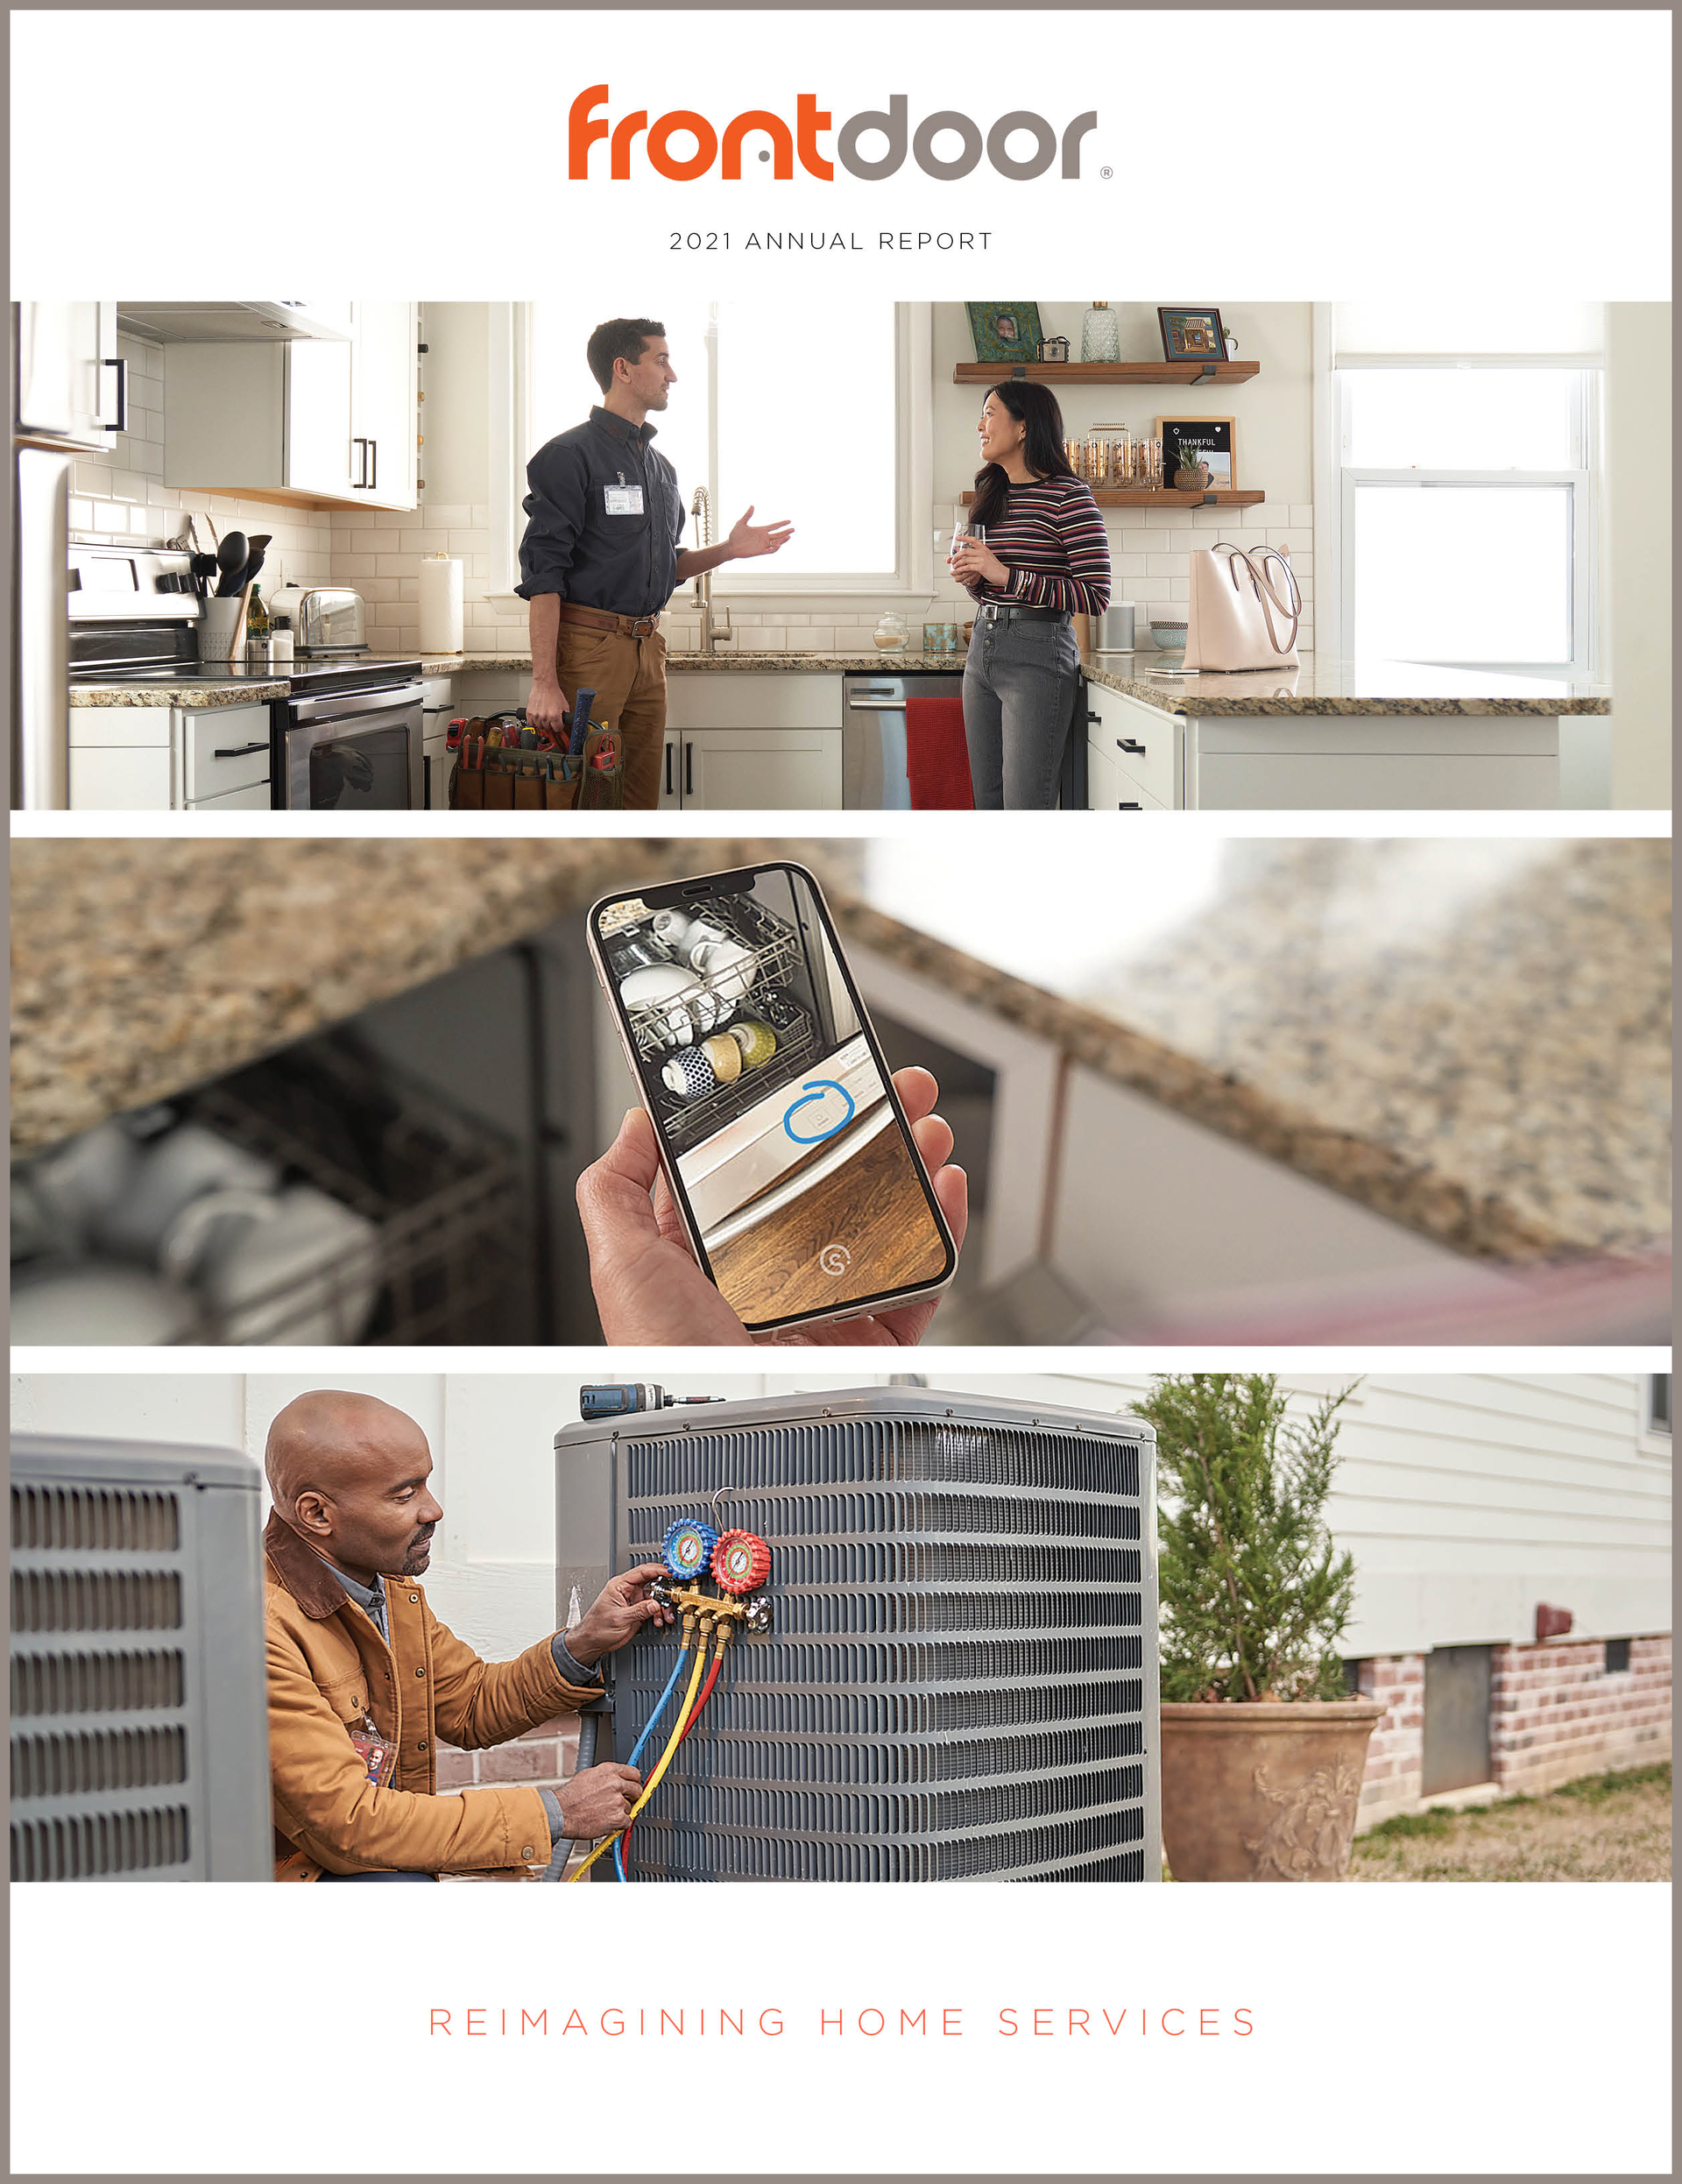
[[(583, 347), (605, 314), (599, 299), (572, 297), (516, 308), (513, 441), (524, 452), (516, 454), (509, 566), (524, 526), (526, 454), (601, 402)], [(653, 314), (677, 373), (671, 406), (655, 419), (658, 448), (677, 470), (684, 507), (697, 485), (708, 487), (714, 542), (749, 505), (756, 522), (795, 526), (775, 557), (725, 563), (714, 592), (911, 587), (913, 448), (928, 461), (928, 426), (913, 426), (911, 389), (928, 384), (928, 308), (852, 304), (837, 317), (832, 301), (786, 297)], [(699, 544), (692, 515), (684, 544)]]

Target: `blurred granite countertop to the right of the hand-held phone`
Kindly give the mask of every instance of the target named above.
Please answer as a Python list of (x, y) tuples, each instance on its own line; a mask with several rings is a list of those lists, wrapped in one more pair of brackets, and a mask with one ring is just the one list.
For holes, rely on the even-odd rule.
[(1667, 841), (1138, 843), (1088, 871), (1046, 828), (1003, 900), (957, 839), (872, 843), (863, 891), (861, 941), (1459, 1251), (1669, 1238)]

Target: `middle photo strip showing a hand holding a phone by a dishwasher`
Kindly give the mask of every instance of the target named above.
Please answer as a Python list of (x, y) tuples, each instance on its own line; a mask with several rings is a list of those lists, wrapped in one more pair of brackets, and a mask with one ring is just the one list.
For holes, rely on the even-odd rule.
[(13, 1343), (1669, 1343), (1669, 843), (1014, 832), (15, 841)]

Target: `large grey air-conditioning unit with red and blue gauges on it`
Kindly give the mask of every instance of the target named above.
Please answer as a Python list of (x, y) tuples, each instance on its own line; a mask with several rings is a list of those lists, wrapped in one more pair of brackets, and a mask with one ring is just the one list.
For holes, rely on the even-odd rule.
[[(867, 1387), (568, 1426), (555, 1457), (561, 1625), (677, 1518), (771, 1548), (773, 1625), (725, 1653), (638, 1880), (1160, 1878), (1149, 1426)], [(599, 1758), (675, 1647), (603, 1664)]]

